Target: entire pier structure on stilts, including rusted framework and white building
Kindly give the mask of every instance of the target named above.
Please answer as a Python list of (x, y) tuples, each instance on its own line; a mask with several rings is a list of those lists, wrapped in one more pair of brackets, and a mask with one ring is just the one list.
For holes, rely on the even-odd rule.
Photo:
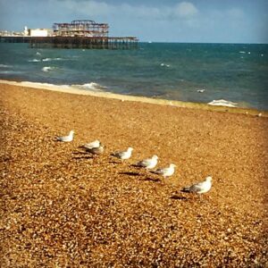
[[(39, 29), (38, 36), (0, 36), (2, 43), (29, 43), (31, 48), (87, 48), (87, 49), (136, 49), (138, 38), (108, 37), (107, 23), (71, 21), (54, 23), (53, 34), (46, 35)], [(30, 33), (30, 31), (29, 31)]]

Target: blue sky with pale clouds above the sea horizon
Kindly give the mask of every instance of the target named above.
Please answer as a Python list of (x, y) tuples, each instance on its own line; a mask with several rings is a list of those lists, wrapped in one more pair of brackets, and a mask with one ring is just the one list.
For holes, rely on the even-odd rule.
[(0, 0), (0, 29), (92, 20), (146, 42), (267, 44), (267, 13), (268, 0)]

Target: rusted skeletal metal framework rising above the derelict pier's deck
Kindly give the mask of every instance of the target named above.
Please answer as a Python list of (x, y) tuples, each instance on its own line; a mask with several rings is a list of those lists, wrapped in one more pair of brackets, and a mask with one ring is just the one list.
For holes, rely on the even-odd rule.
[(107, 38), (109, 33), (109, 25), (107, 23), (96, 23), (89, 20), (54, 23), (53, 29), (55, 37)]

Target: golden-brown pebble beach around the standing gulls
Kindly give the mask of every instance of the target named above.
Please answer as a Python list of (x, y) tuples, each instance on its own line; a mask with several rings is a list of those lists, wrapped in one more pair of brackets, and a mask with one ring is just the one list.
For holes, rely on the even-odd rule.
[[(7, 83), (0, 96), (1, 267), (268, 265), (267, 117)], [(96, 138), (103, 155), (80, 151)], [(152, 155), (175, 173), (133, 165)], [(180, 191), (207, 176), (208, 193)]]

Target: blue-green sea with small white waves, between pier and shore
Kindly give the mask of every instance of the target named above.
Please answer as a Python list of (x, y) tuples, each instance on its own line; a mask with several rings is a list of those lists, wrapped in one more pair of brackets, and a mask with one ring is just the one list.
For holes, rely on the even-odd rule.
[(149, 42), (102, 50), (0, 43), (0, 80), (268, 111), (268, 45)]

